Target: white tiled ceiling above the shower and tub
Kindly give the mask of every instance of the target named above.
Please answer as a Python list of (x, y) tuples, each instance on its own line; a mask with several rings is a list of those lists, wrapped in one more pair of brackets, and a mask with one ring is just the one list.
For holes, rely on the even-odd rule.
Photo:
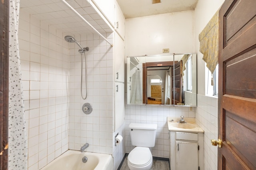
[[(66, 2), (100, 33), (112, 32), (112, 29), (87, 0), (66, 0)], [(66, 34), (85, 35), (95, 33), (61, 0), (20, 0), (20, 12), (27, 12)]]

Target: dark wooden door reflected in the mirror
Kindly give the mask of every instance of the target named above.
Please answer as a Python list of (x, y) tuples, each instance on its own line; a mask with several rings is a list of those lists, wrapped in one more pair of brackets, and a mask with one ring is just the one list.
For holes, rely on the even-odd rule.
[(174, 87), (172, 87), (172, 94), (174, 95), (172, 104), (182, 105), (182, 61), (174, 64), (174, 77), (172, 74), (172, 80), (174, 80)]

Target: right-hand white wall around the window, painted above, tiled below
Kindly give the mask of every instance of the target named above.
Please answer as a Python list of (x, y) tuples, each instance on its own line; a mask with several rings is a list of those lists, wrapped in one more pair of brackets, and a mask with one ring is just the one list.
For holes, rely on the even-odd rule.
[(217, 170), (217, 147), (210, 143), (210, 139), (218, 139), (218, 99), (205, 96), (205, 63), (199, 52), (198, 35), (210, 21), (224, 0), (198, 0), (195, 9), (195, 47), (197, 52), (197, 86), (198, 100), (196, 107), (196, 123), (204, 130), (204, 169)]

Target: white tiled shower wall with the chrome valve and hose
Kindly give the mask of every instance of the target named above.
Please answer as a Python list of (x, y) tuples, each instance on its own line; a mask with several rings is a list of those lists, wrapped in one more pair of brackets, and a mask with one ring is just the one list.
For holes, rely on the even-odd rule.
[[(103, 34), (113, 42), (113, 34)], [(70, 109), (69, 109), (69, 149), (80, 150), (89, 143), (86, 151), (113, 153), (113, 107), (114, 107), (114, 68), (113, 47), (96, 34), (72, 35), (82, 45), (89, 47), (86, 52), (87, 98), (80, 94), (81, 55), (75, 43), (69, 43), (70, 57)], [(84, 56), (83, 56), (84, 62)], [(85, 64), (83, 64), (83, 88), (85, 96)], [(84, 103), (92, 104), (92, 113), (82, 112)]]

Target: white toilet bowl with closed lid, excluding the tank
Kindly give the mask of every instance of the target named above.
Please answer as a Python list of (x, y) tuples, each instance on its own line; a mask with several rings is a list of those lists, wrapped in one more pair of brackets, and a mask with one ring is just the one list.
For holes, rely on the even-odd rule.
[(135, 147), (127, 158), (130, 170), (150, 170), (153, 158), (148, 147)]

